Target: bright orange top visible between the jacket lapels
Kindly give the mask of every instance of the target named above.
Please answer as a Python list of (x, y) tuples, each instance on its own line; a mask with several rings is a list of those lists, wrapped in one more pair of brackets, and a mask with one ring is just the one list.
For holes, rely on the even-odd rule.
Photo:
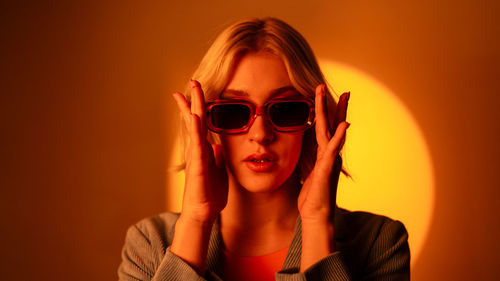
[(274, 281), (280, 271), (288, 248), (264, 256), (242, 257), (223, 250), (224, 280)]

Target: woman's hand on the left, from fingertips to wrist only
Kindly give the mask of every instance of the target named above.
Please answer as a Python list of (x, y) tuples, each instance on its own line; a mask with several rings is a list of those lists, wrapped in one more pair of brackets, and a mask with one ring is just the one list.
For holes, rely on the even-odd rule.
[(180, 93), (173, 96), (190, 139), (181, 217), (211, 225), (227, 203), (228, 179), (222, 147), (207, 141), (205, 98), (200, 83), (191, 80), (191, 104)]

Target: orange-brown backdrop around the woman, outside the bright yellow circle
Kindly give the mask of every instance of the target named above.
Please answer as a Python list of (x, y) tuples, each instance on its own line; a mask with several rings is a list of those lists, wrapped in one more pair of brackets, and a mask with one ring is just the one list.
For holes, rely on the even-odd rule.
[(170, 93), (222, 26), (265, 15), (422, 128), (436, 201), (413, 280), (500, 278), (498, 2), (189, 2), (2, 4), (3, 280), (117, 279), (126, 228), (166, 208)]

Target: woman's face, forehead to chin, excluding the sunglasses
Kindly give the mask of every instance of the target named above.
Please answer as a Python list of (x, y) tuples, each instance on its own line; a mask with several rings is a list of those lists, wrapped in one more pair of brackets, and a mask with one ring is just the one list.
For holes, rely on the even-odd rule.
[[(273, 98), (297, 95), (283, 61), (269, 52), (257, 52), (241, 58), (221, 98), (262, 106)], [(277, 190), (295, 170), (303, 136), (303, 131), (278, 132), (261, 115), (246, 133), (221, 135), (232, 179), (250, 192)]]

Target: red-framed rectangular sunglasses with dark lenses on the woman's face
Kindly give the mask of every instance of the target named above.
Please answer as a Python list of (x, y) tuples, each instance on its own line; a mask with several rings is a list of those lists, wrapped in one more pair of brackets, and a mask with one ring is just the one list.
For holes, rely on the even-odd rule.
[(218, 134), (247, 132), (255, 118), (264, 118), (279, 132), (301, 131), (314, 124), (314, 101), (308, 97), (271, 99), (263, 106), (247, 100), (207, 103), (208, 128)]

